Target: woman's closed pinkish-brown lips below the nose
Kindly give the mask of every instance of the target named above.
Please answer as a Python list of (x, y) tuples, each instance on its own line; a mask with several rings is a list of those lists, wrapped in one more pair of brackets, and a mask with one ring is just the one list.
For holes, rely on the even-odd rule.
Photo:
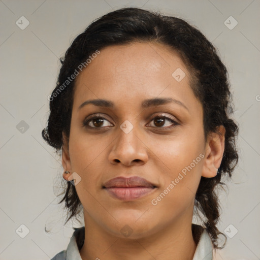
[(157, 186), (138, 176), (117, 177), (109, 180), (103, 188), (113, 197), (123, 201), (132, 201), (153, 192)]

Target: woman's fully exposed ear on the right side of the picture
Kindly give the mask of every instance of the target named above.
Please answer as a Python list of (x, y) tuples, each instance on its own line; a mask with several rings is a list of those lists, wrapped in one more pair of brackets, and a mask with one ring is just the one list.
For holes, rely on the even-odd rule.
[(225, 148), (225, 128), (218, 126), (217, 133), (208, 135), (205, 146), (205, 160), (202, 169), (202, 176), (212, 178), (217, 175), (217, 169), (220, 167)]

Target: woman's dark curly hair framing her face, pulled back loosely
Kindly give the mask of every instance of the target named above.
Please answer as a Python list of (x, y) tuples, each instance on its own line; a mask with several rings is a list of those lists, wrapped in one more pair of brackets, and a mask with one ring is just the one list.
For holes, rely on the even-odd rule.
[[(203, 223), (214, 248), (223, 248), (218, 243), (219, 235), (225, 235), (217, 229), (220, 206), (216, 189), (224, 184), (221, 177), (231, 178), (238, 163), (235, 144), (238, 125), (230, 118), (233, 105), (226, 67), (212, 43), (183, 19), (139, 8), (122, 8), (94, 20), (75, 38), (64, 57), (60, 58), (61, 68), (56, 87), (49, 99), (50, 115), (42, 137), (56, 152), (64, 144), (62, 132), (69, 140), (75, 80), (68, 81), (68, 78), (82, 67), (79, 65), (96, 50), (134, 42), (161, 43), (170, 46), (181, 57), (191, 75), (190, 87), (203, 105), (205, 140), (209, 133), (218, 132), (218, 126), (223, 125), (225, 128), (225, 148), (218, 173), (213, 178), (201, 177), (195, 198), (196, 209), (206, 217)], [(64, 82), (68, 84), (65, 86)], [(59, 203), (66, 203), (67, 223), (77, 216), (82, 205), (75, 186), (70, 182), (62, 194), (64, 197)], [(192, 225), (192, 235), (196, 243), (202, 232), (201, 226)]]

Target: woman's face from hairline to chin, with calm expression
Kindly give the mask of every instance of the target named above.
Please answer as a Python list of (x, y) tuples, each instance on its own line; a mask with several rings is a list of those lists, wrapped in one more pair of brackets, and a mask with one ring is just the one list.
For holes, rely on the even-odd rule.
[[(85, 222), (133, 238), (191, 223), (206, 146), (203, 108), (178, 55), (155, 43), (110, 46), (75, 87), (69, 157), (62, 158), (81, 178), (75, 187)], [(81, 106), (91, 100), (113, 106)], [(102, 118), (88, 121), (93, 115)], [(120, 179), (106, 185), (116, 177), (148, 184)]]

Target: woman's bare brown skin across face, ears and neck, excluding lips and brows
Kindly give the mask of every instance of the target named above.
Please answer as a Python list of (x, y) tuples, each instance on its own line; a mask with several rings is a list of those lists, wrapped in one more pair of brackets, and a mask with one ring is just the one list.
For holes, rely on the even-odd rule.
[[(178, 68), (186, 74), (180, 82), (172, 77)], [(204, 139), (202, 104), (189, 86), (185, 64), (158, 43), (110, 46), (77, 76), (75, 86), (69, 140), (63, 134), (62, 165), (71, 172), (63, 174), (64, 179), (72, 178), (73, 172), (81, 177), (75, 186), (84, 207), (81, 258), (191, 260), (196, 250), (191, 233), (194, 197), (201, 176), (216, 176), (224, 128), (219, 128), (222, 135)], [(187, 109), (175, 103), (141, 108), (145, 99), (169, 97)], [(115, 108), (89, 104), (78, 109), (92, 99), (112, 101)], [(106, 118), (103, 124), (92, 120), (89, 125), (96, 128), (82, 126), (95, 113)], [(174, 124), (167, 118), (165, 123), (153, 119), (160, 113), (178, 124), (164, 130)], [(128, 134), (120, 128), (125, 120), (133, 125)], [(151, 200), (200, 154), (204, 158), (152, 205)], [(139, 176), (157, 188), (135, 201), (121, 201), (102, 189), (118, 176)], [(128, 237), (120, 232), (125, 225), (133, 231)]]

